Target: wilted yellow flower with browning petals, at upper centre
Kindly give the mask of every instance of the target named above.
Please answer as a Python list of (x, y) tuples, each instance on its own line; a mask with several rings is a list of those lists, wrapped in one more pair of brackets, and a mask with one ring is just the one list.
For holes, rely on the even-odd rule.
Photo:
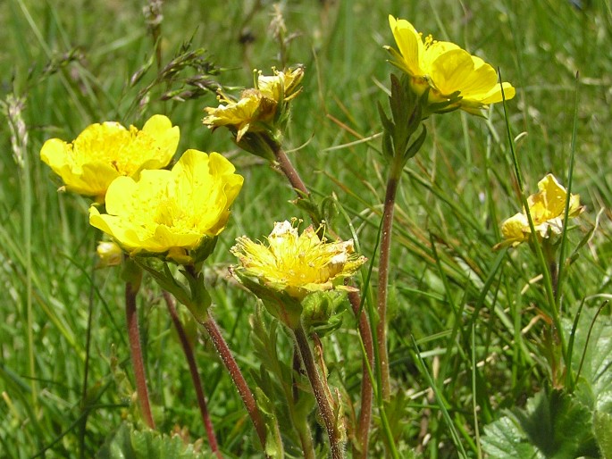
[(303, 76), (302, 67), (287, 72), (274, 70), (272, 76), (260, 73), (256, 88), (242, 91), (238, 101), (220, 95), (218, 107), (206, 107), (208, 116), (203, 122), (211, 129), (227, 126), (235, 131), (237, 142), (247, 132), (272, 129), (275, 121), (286, 112), (286, 103), (298, 96)]

